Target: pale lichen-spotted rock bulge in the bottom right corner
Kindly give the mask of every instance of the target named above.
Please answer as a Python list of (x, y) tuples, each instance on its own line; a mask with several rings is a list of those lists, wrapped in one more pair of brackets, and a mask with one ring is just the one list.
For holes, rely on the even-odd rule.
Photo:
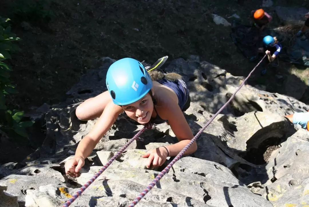
[(266, 165), (267, 174), (273, 177), (264, 185), (255, 188), (256, 194), (271, 201), (274, 206), (309, 204), (309, 133), (298, 130), (281, 148), (276, 149)]

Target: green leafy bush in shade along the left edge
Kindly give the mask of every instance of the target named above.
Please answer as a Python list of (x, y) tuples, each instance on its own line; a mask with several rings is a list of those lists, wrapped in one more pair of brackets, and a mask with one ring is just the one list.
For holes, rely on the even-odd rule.
[(11, 32), (9, 20), (8, 18), (0, 17), (0, 130), (11, 136), (28, 137), (26, 128), (31, 127), (33, 122), (21, 121), (23, 111), (16, 109), (8, 110), (5, 102), (5, 98), (8, 95), (17, 93), (17, 91), (9, 79), (12, 69), (3, 61), (11, 59), (11, 52), (20, 50), (18, 46), (12, 43), (19, 41), (20, 38)]

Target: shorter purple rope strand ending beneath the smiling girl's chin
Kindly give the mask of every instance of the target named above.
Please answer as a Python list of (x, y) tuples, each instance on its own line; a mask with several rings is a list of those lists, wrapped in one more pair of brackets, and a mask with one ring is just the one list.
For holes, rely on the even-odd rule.
[(91, 183), (93, 183), (93, 181), (95, 181), (95, 179), (97, 179), (104, 172), (104, 170), (106, 170), (106, 168), (108, 168), (108, 166), (111, 165), (114, 160), (116, 160), (116, 158), (120, 155), (121, 152), (123, 152), (134, 140), (137, 140), (138, 136), (140, 136), (146, 129), (151, 128), (152, 124), (146, 124), (144, 128), (142, 128), (135, 136), (133, 136), (132, 139), (129, 140), (127, 144), (125, 144), (125, 146), (123, 146), (110, 160), (108, 160), (108, 162), (103, 166), (103, 168), (99, 169), (99, 172), (95, 173), (95, 175), (85, 185), (83, 185), (83, 187), (81, 187), (72, 196), (72, 198), (66, 201), (66, 203), (62, 207), (68, 207), (69, 205), (71, 205), (76, 200), (76, 198), (78, 198), (78, 196), (80, 196), (80, 194), (82, 194), (89, 187), (89, 185), (91, 185)]

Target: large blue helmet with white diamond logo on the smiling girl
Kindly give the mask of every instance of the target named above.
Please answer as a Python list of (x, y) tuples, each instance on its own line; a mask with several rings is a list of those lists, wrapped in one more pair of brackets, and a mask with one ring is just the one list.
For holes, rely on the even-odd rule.
[(142, 63), (123, 58), (108, 68), (106, 86), (114, 104), (126, 105), (144, 97), (152, 88), (152, 80)]

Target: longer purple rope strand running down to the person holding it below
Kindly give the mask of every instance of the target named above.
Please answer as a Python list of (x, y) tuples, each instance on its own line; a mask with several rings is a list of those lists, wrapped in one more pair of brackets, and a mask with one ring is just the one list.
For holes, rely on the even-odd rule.
[(236, 93), (240, 90), (240, 88), (244, 85), (244, 83), (247, 81), (247, 79), (250, 77), (250, 75), (253, 73), (253, 71), (256, 69), (256, 67), (258, 67), (260, 65), (260, 63), (263, 61), (263, 59), (266, 57), (267, 54), (264, 55), (264, 57), (260, 60), (259, 63), (257, 63), (257, 65), (253, 68), (253, 70), (249, 73), (249, 75), (247, 76), (246, 79), (244, 79), (244, 81), (240, 84), (240, 86), (237, 88), (237, 90), (233, 93), (233, 95), (231, 96), (231, 98), (219, 109), (219, 111), (205, 124), (205, 126), (203, 128), (201, 128), (201, 130), (193, 137), (193, 139), (189, 142), (189, 144), (187, 144), (179, 153), (178, 155), (170, 162), (170, 164), (168, 164), (162, 171), (161, 173), (159, 173), (159, 175), (157, 175), (157, 177), (155, 177), (155, 179), (148, 185), (148, 187), (146, 189), (143, 190), (142, 193), (140, 193), (138, 195), (137, 198), (134, 199), (134, 201), (129, 205), (129, 207), (133, 207), (135, 206), (138, 201), (140, 201), (154, 186), (157, 182), (159, 182), (159, 180), (169, 171), (169, 169), (173, 166), (173, 164), (175, 164), (176, 161), (178, 161), (180, 159), (180, 157), (184, 154), (184, 152), (187, 151), (187, 149), (193, 144), (193, 142), (195, 142), (195, 140), (197, 140), (197, 138), (201, 135), (201, 133), (205, 130), (206, 127), (208, 127), (208, 125), (214, 120), (214, 118), (216, 118), (216, 116), (218, 116), (218, 114), (227, 106), (227, 104), (229, 104), (231, 102), (231, 100), (234, 98), (234, 96), (236, 95)]

